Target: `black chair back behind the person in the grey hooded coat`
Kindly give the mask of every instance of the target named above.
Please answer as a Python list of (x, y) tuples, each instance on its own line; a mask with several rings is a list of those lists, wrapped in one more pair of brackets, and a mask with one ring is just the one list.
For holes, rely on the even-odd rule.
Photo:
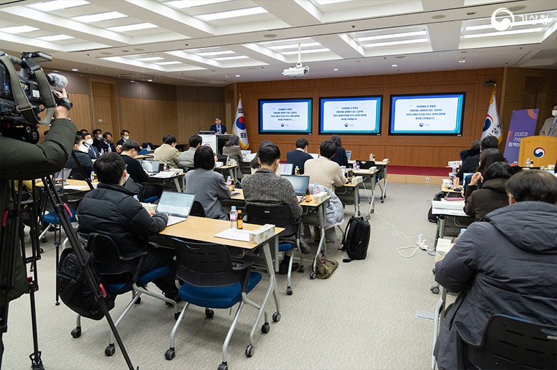
[(459, 369), (556, 368), (557, 326), (497, 314), (487, 321), (478, 344), (464, 323), (455, 321), (455, 325)]

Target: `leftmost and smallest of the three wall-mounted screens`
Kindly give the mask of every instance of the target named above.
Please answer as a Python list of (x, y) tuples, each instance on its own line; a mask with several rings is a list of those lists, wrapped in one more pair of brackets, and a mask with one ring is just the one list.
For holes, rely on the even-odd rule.
[(311, 134), (311, 98), (259, 99), (260, 134)]

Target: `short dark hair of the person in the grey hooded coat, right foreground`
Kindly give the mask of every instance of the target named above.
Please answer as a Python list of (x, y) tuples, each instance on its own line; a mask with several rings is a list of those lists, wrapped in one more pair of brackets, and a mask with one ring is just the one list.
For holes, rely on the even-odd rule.
[(543, 170), (524, 170), (513, 175), (505, 186), (516, 202), (557, 204), (557, 177)]

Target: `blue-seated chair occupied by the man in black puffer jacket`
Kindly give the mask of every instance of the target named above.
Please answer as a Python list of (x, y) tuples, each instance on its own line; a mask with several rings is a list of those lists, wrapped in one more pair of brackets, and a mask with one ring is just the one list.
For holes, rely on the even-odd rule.
[[(116, 243), (110, 236), (91, 233), (88, 235), (79, 233), (82, 240), (87, 240), (87, 250), (91, 253), (95, 268), (97, 269), (104, 289), (107, 290), (112, 296), (118, 296), (128, 291), (132, 291), (132, 300), (127, 304), (124, 312), (118, 317), (114, 323), (122, 321), (124, 316), (136, 303), (141, 302), (141, 295), (145, 294), (159, 300), (163, 300), (169, 305), (174, 307), (174, 319), (178, 319), (180, 312), (178, 311), (178, 304), (162, 294), (153, 293), (145, 289), (146, 284), (168, 275), (171, 270), (168, 266), (160, 266), (139, 275), (141, 265), (143, 263), (143, 256), (147, 255), (146, 251), (136, 252), (134, 254), (122, 255)], [(77, 338), (81, 336), (81, 316), (77, 315), (77, 325), (72, 330), (72, 337)], [(116, 352), (114, 347), (114, 335), (110, 332), (109, 345), (104, 349), (104, 354), (111, 356)]]

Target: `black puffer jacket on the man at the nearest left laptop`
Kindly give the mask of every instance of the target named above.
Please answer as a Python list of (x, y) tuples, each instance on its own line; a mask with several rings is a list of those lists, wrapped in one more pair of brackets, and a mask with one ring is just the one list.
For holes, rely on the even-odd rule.
[(165, 214), (151, 217), (132, 195), (134, 193), (123, 186), (100, 183), (79, 204), (79, 231), (110, 236), (122, 253), (147, 248), (148, 236), (164, 230), (168, 218)]

